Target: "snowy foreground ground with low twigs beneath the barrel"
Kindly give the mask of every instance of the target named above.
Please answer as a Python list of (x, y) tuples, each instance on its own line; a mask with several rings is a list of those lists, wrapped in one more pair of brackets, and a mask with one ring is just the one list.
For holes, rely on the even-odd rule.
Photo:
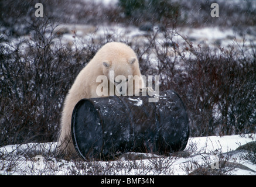
[[(67, 161), (54, 157), (57, 143), (29, 143), (0, 148), (0, 175), (256, 175), (256, 165), (239, 146), (256, 134), (189, 138), (184, 151), (169, 156), (126, 153), (114, 161)], [(254, 158), (255, 159), (255, 158)]]

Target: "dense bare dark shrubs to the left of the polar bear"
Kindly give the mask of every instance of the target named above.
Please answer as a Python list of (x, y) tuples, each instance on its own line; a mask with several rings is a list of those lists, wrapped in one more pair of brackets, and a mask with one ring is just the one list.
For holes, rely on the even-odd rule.
[(0, 146), (56, 141), (64, 97), (95, 48), (67, 49), (55, 25), (37, 20), (28, 40), (0, 44)]

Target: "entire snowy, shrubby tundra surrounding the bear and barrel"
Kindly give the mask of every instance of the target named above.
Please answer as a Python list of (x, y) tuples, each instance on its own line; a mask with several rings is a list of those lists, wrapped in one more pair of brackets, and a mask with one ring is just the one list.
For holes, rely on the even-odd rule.
[[(255, 175), (256, 4), (217, 3), (219, 18), (211, 1), (47, 0), (37, 18), (34, 1), (0, 2), (0, 174)], [(104, 162), (57, 154), (66, 93), (109, 41), (127, 43), (143, 75), (179, 93), (184, 151)]]

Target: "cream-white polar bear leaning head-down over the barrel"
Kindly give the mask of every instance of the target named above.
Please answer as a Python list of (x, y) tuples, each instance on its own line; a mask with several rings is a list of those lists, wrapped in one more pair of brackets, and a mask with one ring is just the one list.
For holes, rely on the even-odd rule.
[[(64, 101), (64, 108), (61, 118), (61, 133), (58, 144), (59, 151), (64, 155), (74, 155), (76, 150), (71, 139), (71, 116), (74, 106), (80, 99), (83, 98), (98, 98), (97, 87), (101, 82), (97, 81), (99, 75), (105, 75), (108, 79), (108, 88), (110, 85), (116, 85), (118, 80), (110, 80), (110, 72), (114, 72), (115, 78), (122, 75), (129, 80), (129, 75), (136, 75), (141, 78), (139, 70), (138, 58), (134, 50), (124, 43), (111, 42), (105, 44), (95, 54), (93, 59), (83, 68), (77, 75), (74, 84), (71, 86)], [(144, 87), (144, 81), (139, 81), (139, 84), (133, 86), (133, 93), (136, 94)], [(128, 89), (128, 87), (127, 87)], [(123, 90), (121, 92), (124, 92)], [(108, 95), (111, 91), (108, 91)], [(104, 95), (105, 96), (105, 95)]]

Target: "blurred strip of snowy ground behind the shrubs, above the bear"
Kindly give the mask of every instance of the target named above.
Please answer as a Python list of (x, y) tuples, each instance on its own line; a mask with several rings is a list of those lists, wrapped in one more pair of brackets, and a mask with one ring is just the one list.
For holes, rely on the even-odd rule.
[[(50, 29), (50, 27), (49, 27)], [(256, 27), (248, 27), (246, 30), (255, 30)], [(163, 43), (175, 43), (185, 44), (185, 40), (182, 37), (185, 37), (187, 41), (192, 42), (194, 46), (207, 46), (211, 49), (217, 49), (220, 47), (236, 46), (238, 45), (247, 47), (250, 49), (252, 46), (256, 45), (256, 35), (255, 33), (239, 33), (232, 28), (223, 28), (223, 27), (177, 27), (175, 30), (169, 29), (166, 33), (169, 33), (169, 36), (166, 37), (166, 33), (159, 30), (158, 26), (153, 27), (153, 32), (146, 32), (140, 30), (135, 26), (127, 26), (121, 23), (112, 24), (112, 25), (79, 25), (79, 24), (60, 24), (54, 28), (54, 33), (57, 34), (57, 38), (54, 39), (55, 43), (64, 44), (70, 49), (83, 49), (86, 45), (90, 45), (93, 40), (94, 44), (101, 43), (102, 41), (124, 41), (131, 45), (137, 46), (146, 46), (149, 44), (149, 40), (154, 37), (156, 43), (161, 46)], [(46, 33), (46, 37), (47, 34)], [(170, 36), (170, 34), (172, 36)], [(155, 36), (154, 36), (155, 35)], [(4, 35), (3, 35), (4, 36)], [(11, 43), (19, 43), (20, 41), (30, 40), (31, 35), (25, 35), (18, 38), (13, 38)], [(49, 36), (50, 37), (50, 36)], [(170, 41), (172, 39), (172, 41)], [(244, 40), (245, 39), (245, 40)], [(238, 44), (238, 45), (237, 45)], [(24, 49), (26, 45), (23, 43)], [(172, 47), (170, 46), (170, 50)]]

